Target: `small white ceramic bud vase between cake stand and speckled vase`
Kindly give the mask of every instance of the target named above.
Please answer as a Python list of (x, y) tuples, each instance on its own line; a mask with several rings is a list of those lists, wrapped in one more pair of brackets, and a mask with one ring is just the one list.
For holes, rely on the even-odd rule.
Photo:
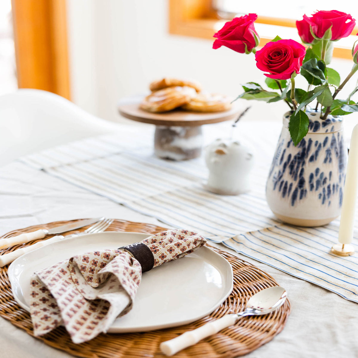
[(249, 190), (249, 174), (253, 166), (249, 147), (237, 140), (217, 139), (206, 148), (205, 161), (209, 169), (207, 190), (223, 195), (237, 195)]

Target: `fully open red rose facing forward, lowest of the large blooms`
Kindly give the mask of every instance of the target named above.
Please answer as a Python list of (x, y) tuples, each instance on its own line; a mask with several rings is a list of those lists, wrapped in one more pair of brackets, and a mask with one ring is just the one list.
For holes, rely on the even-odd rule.
[(306, 49), (294, 40), (279, 40), (267, 43), (256, 52), (256, 66), (265, 76), (274, 79), (289, 79), (292, 73), (300, 73)]

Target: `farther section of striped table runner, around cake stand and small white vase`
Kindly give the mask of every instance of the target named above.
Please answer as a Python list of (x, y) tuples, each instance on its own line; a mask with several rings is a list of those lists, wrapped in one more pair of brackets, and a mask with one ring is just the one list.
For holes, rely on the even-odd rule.
[(22, 161), (172, 227), (214, 237), (214, 241), (278, 223), (265, 200), (267, 165), (255, 166), (250, 193), (226, 196), (203, 188), (207, 168), (202, 158), (161, 160), (153, 155), (151, 145), (130, 147), (122, 137), (81, 140)]

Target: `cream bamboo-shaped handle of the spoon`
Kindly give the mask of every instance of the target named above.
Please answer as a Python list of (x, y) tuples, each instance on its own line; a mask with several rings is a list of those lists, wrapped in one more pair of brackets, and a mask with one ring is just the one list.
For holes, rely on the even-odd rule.
[(209, 322), (203, 326), (183, 333), (182, 335), (175, 337), (166, 342), (160, 344), (160, 349), (165, 355), (173, 355), (179, 350), (189, 347), (199, 340), (209, 337), (212, 334), (218, 333), (222, 329), (233, 325), (237, 320), (236, 314), (227, 314), (216, 321)]

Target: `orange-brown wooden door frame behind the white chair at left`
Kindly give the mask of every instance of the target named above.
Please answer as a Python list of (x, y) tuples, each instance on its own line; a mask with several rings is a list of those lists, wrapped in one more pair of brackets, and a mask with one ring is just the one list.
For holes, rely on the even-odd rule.
[(11, 0), (19, 88), (70, 99), (66, 0)]

